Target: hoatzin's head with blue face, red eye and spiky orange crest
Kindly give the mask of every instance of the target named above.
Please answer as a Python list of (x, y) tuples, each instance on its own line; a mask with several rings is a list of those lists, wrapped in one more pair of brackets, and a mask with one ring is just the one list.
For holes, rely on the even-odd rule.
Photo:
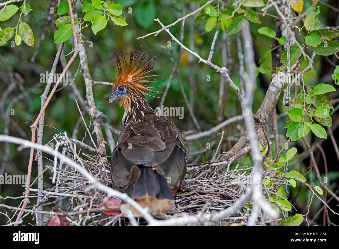
[(141, 47), (138, 51), (136, 49), (134, 52), (131, 51), (131, 54), (128, 58), (127, 56), (127, 47), (125, 55), (120, 50), (120, 57), (113, 51), (112, 55), (117, 63), (118, 74), (117, 79), (115, 80), (111, 94), (109, 95), (108, 102), (112, 103), (115, 100), (120, 100), (120, 106), (123, 106), (125, 109), (131, 107), (133, 102), (145, 101), (144, 95), (146, 92), (155, 92), (152, 87), (145, 85), (145, 83), (157, 82), (158, 79), (149, 79), (149, 77), (159, 76), (159, 75), (149, 75), (150, 73), (156, 71), (151, 64), (155, 58), (153, 57), (143, 65), (142, 62), (145, 59), (145, 54)]

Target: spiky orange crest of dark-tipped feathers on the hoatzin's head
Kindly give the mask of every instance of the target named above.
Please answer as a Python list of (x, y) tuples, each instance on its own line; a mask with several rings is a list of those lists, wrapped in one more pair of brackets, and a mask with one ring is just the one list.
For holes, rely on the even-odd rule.
[(148, 79), (149, 77), (160, 76), (160, 75), (149, 75), (150, 73), (157, 70), (153, 68), (153, 64), (151, 63), (158, 56), (153, 57), (152, 59), (147, 61), (145, 64), (140, 66), (146, 57), (145, 54), (143, 53), (143, 49), (141, 50), (141, 47), (139, 48), (138, 51), (136, 51), (136, 48), (134, 49), (134, 52), (131, 51), (131, 55), (129, 56), (129, 59), (127, 56), (127, 46), (126, 46), (125, 55), (123, 54), (120, 47), (119, 47), (119, 50), (120, 50), (121, 58), (119, 58), (115, 50), (113, 50), (114, 54), (112, 53), (117, 63), (117, 67), (118, 67), (117, 79), (115, 80), (113, 84), (113, 90), (115, 90), (118, 85), (124, 85), (127, 88), (138, 90), (142, 94), (146, 94), (145, 93), (146, 91), (158, 93), (158, 91), (151, 89), (153, 87), (149, 87), (145, 85), (145, 83), (159, 82), (158, 80), (163, 79), (163, 78)]

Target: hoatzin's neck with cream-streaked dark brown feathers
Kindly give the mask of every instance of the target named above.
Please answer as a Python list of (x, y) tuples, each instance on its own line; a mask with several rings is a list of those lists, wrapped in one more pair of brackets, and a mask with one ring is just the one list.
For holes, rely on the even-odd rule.
[(125, 113), (122, 117), (124, 127), (129, 124), (139, 122), (147, 115), (154, 115), (156, 112), (147, 103), (146, 98), (142, 94), (136, 94), (130, 98), (130, 102), (124, 105)]

